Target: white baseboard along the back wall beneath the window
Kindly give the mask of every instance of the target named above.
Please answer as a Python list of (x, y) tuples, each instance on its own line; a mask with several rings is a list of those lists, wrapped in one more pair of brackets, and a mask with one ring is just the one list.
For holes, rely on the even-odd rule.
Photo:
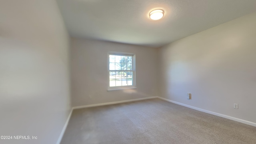
[(94, 106), (104, 106), (104, 105), (109, 105), (109, 104), (119, 104), (119, 103), (124, 103), (124, 102), (133, 102), (133, 101), (137, 101), (137, 100), (147, 100), (147, 99), (151, 99), (151, 98), (158, 98), (158, 97), (157, 96), (152, 96), (152, 97), (148, 97), (148, 98), (137, 98), (137, 99), (133, 99), (133, 100), (122, 100), (122, 101), (117, 101), (117, 102), (105, 102), (105, 103), (101, 103), (101, 104), (89, 104), (89, 105), (84, 105), (84, 106), (75, 106), (75, 107), (73, 107), (73, 109), (89, 108), (89, 107), (94, 107)]

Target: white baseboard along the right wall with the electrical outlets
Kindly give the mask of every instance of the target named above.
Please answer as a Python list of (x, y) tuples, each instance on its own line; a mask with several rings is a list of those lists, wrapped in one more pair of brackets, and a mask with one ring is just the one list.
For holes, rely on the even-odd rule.
[(173, 100), (168, 100), (168, 99), (166, 99), (166, 98), (162, 98), (162, 97), (159, 97), (159, 96), (157, 96), (157, 98), (160, 98), (160, 99), (162, 99), (162, 100), (166, 100), (166, 101), (168, 101), (168, 102), (172, 102), (172, 103), (174, 103), (174, 104), (178, 104), (178, 105), (181, 105), (181, 106), (186, 106), (186, 107), (192, 108), (192, 109), (194, 109), (194, 110), (198, 110), (198, 111), (201, 111), (201, 112), (206, 112), (206, 113), (208, 113), (208, 114), (213, 114), (213, 115), (215, 115), (215, 116), (220, 116), (220, 117), (222, 117), (222, 118), (227, 118), (227, 119), (230, 119), (230, 120), (234, 120), (234, 121), (236, 121), (236, 122), (241, 122), (241, 123), (243, 123), (243, 124), (248, 124), (248, 125), (251, 125), (251, 126), (255, 126), (255, 127), (256, 127), (256, 123), (254, 123), (254, 122), (250, 122), (250, 121), (247, 121), (247, 120), (242, 120), (242, 119), (240, 119), (240, 118), (234, 118), (234, 117), (232, 117), (232, 116), (227, 116), (227, 115), (224, 115), (224, 114), (219, 114), (219, 113), (217, 113), (217, 112), (212, 112), (212, 111), (209, 111), (209, 110), (204, 110), (204, 109), (202, 109), (202, 108), (197, 108), (197, 107), (190, 106), (190, 105), (187, 105), (187, 104), (182, 104), (182, 103), (180, 103), (180, 102), (175, 102), (175, 101), (173, 101)]

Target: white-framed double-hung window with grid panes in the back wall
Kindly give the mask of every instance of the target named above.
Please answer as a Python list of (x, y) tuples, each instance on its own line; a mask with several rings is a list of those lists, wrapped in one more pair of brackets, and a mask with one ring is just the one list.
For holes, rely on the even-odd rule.
[(108, 53), (108, 90), (135, 88), (135, 54)]

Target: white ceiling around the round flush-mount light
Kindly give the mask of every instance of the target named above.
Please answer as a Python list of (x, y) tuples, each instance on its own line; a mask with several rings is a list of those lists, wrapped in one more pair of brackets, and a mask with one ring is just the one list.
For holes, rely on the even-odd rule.
[[(256, 0), (57, 0), (73, 37), (160, 47), (256, 12)], [(164, 10), (162, 19), (149, 12)]]

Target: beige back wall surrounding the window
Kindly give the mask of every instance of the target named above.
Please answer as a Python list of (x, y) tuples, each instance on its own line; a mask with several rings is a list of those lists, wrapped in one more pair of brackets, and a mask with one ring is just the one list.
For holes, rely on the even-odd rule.
[[(107, 91), (108, 52), (134, 53), (136, 89)], [(72, 38), (72, 106), (157, 96), (156, 48)]]

